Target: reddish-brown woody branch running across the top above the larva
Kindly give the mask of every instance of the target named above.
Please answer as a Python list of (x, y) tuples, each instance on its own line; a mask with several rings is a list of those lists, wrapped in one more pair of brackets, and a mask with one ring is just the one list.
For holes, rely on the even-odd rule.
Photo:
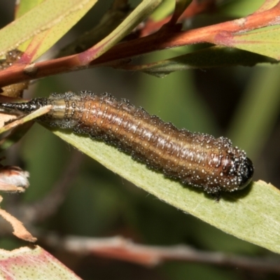
[(97, 59), (94, 59), (94, 57), (99, 50), (93, 46), (78, 55), (30, 65), (14, 64), (10, 68), (0, 72), (0, 87), (25, 80), (43, 78), (57, 73), (78, 71), (88, 67), (117, 66), (118, 64), (127, 63), (127, 59), (138, 55), (144, 55), (155, 50), (179, 47), (181, 45), (214, 43), (216, 45), (232, 46), (235, 39), (234, 35), (236, 34), (260, 27), (277, 25), (279, 23), (280, 3), (269, 10), (248, 15), (246, 18), (223, 22), (209, 27), (189, 31), (177, 31), (174, 28), (164, 27), (155, 34), (115, 45), (111, 50)]

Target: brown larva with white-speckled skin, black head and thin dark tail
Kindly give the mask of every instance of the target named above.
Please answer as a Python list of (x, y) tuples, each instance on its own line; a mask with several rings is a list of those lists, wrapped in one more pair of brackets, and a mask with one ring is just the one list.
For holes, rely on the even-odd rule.
[(251, 160), (244, 151), (232, 147), (229, 139), (179, 130), (110, 94), (66, 92), (25, 104), (0, 106), (29, 113), (47, 104), (52, 109), (39, 119), (41, 122), (117, 146), (149, 168), (207, 193), (239, 190), (253, 176)]

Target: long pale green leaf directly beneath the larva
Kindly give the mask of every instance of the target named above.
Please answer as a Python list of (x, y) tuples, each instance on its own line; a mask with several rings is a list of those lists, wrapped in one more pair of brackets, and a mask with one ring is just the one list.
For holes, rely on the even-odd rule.
[(219, 202), (201, 191), (166, 179), (129, 155), (89, 137), (55, 131), (83, 153), (174, 207), (216, 228), (280, 253), (280, 191), (262, 181), (236, 193), (224, 193)]

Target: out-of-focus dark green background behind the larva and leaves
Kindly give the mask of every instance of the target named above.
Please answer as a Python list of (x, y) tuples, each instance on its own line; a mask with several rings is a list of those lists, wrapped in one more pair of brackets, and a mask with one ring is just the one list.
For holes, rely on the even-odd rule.
[[(10, 2), (0, 3), (1, 9), (6, 10), (1, 26), (13, 20), (14, 3)], [(97, 24), (99, 15), (111, 3), (105, 0), (99, 2), (102, 3), (98, 3), (73, 28), (60, 45), (65, 45), (89, 26)], [(198, 16), (190, 22), (191, 27), (230, 20), (232, 16), (240, 17), (253, 10), (252, 1), (225, 2), (227, 4), (221, 6), (216, 14)], [(247, 3), (246, 8), (240, 8), (238, 2)], [(180, 52), (157, 52), (138, 61), (151, 62), (180, 55)], [(230, 137), (233, 144), (246, 150), (253, 160), (255, 181), (262, 179), (280, 186), (279, 73), (279, 66), (228, 67), (182, 71), (166, 78), (155, 78), (144, 73), (87, 69), (39, 80), (29, 87), (27, 94), (29, 97), (43, 97), (51, 92), (92, 90), (130, 99), (132, 104), (143, 106), (149, 113), (171, 121), (177, 127), (214, 134), (215, 137)], [(34, 125), (22, 141), (7, 153), (8, 163), (20, 165), (31, 174), (31, 186), (24, 195), (20, 195), (20, 199), (35, 202), (43, 198), (59, 180), (72, 152), (69, 144), (40, 125)], [(205, 251), (273, 255), (160, 202), (86, 157), (62, 207), (38, 227), (60, 235), (121, 235), (140, 244), (186, 244)], [(0, 243), (1, 248), (18, 246), (18, 241), (10, 239), (2, 239)], [(97, 256), (64, 255), (53, 248), (47, 249), (83, 279), (233, 280), (268, 279), (268, 276), (269, 279), (277, 279), (273, 275), (254, 274), (242, 269), (187, 262), (168, 262), (147, 268)]]

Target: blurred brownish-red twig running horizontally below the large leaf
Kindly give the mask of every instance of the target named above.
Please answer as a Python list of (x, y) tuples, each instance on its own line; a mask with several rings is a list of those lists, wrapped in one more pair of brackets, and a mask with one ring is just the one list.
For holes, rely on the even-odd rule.
[(166, 261), (199, 262), (211, 265), (239, 267), (258, 272), (280, 274), (280, 260), (267, 258), (249, 258), (240, 255), (198, 251), (190, 246), (145, 246), (135, 244), (123, 237), (90, 238), (58, 237), (42, 235), (43, 244), (59, 248), (78, 255), (102, 255), (108, 258), (134, 262), (139, 265), (155, 266)]

